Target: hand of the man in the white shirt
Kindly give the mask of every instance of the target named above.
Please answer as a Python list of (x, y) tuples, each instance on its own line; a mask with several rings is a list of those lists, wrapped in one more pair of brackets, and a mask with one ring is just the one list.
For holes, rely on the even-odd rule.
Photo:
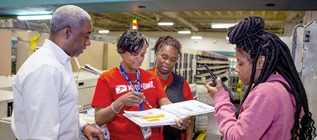
[(104, 135), (100, 129), (94, 127), (93, 125), (86, 125), (84, 127), (84, 135), (88, 138), (88, 140), (93, 140), (94, 137), (98, 137), (99, 140), (104, 140)]

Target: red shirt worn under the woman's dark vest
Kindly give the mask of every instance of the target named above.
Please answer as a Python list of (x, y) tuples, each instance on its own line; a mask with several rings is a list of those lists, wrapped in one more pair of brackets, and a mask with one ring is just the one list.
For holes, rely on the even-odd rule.
[[(155, 74), (155, 69), (156, 69), (156, 67), (151, 69), (151, 71), (154, 74)], [(170, 78), (169, 79), (165, 80), (165, 79), (160, 78), (159, 76), (157, 76), (157, 77), (160, 79), (163, 88), (165, 87), (166, 83), (167, 83), (167, 87), (168, 87), (173, 82), (173, 74), (172, 74), (172, 72), (170, 74)], [(189, 87), (188, 82), (187, 82), (186, 79), (185, 79), (184, 84), (183, 84), (183, 95), (184, 95), (184, 101), (194, 100), (192, 91), (190, 90), (190, 87)], [(182, 131), (182, 139), (185, 139), (185, 131)]]

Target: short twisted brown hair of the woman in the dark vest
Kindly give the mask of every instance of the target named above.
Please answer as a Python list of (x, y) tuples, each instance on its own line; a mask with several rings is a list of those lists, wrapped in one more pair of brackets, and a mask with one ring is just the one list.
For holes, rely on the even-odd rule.
[(182, 52), (182, 45), (178, 42), (178, 40), (170, 35), (162, 36), (157, 41), (155, 41), (154, 52), (159, 52), (163, 45), (169, 45), (175, 47), (177, 49), (178, 57), (180, 52)]

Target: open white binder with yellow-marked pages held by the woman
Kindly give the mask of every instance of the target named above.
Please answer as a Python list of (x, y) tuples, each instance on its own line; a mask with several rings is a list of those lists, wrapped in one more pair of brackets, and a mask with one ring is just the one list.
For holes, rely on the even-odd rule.
[(184, 118), (188, 115), (200, 115), (215, 111), (215, 107), (208, 104), (189, 100), (173, 104), (162, 105), (161, 109), (152, 108), (143, 111), (124, 110), (124, 116), (141, 127), (157, 127), (175, 125), (174, 119)]

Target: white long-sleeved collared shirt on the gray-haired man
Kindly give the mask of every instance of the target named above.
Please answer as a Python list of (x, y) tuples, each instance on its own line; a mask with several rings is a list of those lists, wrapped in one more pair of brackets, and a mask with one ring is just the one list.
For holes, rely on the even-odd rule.
[(45, 40), (12, 85), (11, 128), (17, 139), (79, 139), (85, 122), (79, 119), (71, 57), (59, 46)]

